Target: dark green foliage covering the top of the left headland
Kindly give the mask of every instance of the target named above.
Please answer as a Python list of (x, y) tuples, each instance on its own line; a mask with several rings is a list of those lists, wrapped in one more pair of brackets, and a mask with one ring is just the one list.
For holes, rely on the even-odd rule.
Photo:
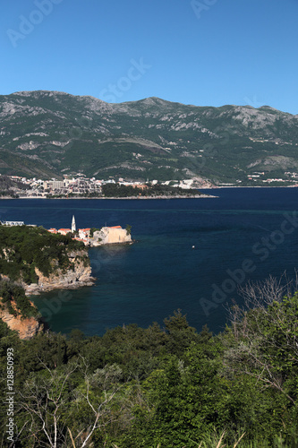
[(84, 248), (70, 236), (53, 235), (45, 228), (0, 226), (0, 272), (11, 280), (34, 283), (35, 267), (44, 275), (67, 269), (71, 265), (68, 253)]

